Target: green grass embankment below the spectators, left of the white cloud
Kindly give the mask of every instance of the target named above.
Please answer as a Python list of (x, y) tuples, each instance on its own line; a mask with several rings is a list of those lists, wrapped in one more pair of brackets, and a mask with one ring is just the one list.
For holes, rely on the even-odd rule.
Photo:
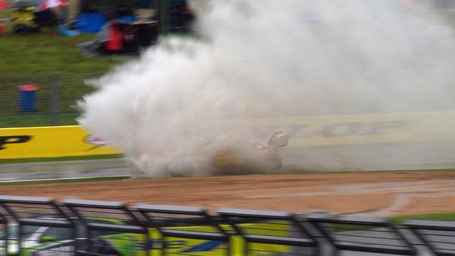
[[(76, 125), (76, 101), (93, 89), (87, 78), (97, 78), (132, 57), (87, 57), (76, 45), (93, 34), (65, 37), (43, 31), (18, 35), (6, 31), (0, 36), (0, 128), (43, 125)], [(52, 77), (53, 76), (53, 77)], [(57, 78), (57, 82), (55, 82)], [(57, 83), (58, 121), (51, 118), (52, 83)], [(36, 111), (19, 111), (18, 85), (33, 84)]]

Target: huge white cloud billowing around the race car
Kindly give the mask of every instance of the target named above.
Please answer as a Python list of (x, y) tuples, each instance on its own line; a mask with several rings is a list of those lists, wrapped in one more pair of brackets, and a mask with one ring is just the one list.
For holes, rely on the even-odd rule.
[[(258, 118), (454, 110), (451, 28), (403, 3), (213, 1), (199, 15), (202, 38), (162, 38), (97, 80), (79, 122), (161, 176), (207, 170), (211, 153), (198, 147), (208, 136), (265, 140), (274, 128), (254, 125)], [(311, 165), (300, 153), (287, 160), (321, 169), (370, 160), (343, 151), (322, 152)]]

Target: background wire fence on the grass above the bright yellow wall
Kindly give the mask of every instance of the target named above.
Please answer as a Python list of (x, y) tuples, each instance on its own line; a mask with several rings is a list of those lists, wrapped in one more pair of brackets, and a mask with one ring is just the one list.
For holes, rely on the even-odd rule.
[[(96, 77), (96, 76), (95, 76)], [(85, 77), (86, 78), (86, 77)], [(93, 90), (84, 77), (52, 74), (51, 76), (0, 76), (0, 128), (50, 125), (76, 125), (80, 111), (77, 101)], [(35, 98), (27, 98), (23, 109), (20, 85), (35, 85)], [(29, 92), (30, 93), (30, 92)]]

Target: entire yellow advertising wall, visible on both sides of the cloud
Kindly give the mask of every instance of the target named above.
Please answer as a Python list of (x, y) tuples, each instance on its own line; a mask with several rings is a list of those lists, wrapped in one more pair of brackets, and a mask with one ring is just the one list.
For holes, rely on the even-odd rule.
[[(455, 141), (455, 111), (267, 118), (241, 124), (258, 132), (283, 131), (289, 136), (289, 148)], [(231, 125), (235, 127), (239, 121)], [(118, 153), (80, 126), (0, 129), (1, 159)]]

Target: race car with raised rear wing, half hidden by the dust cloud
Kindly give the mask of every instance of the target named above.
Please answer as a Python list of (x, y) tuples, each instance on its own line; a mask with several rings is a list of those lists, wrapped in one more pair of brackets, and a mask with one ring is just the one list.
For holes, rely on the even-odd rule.
[(275, 131), (267, 144), (237, 136), (216, 136), (209, 144), (215, 149), (211, 163), (215, 173), (275, 171), (282, 165), (278, 148), (288, 145), (288, 136)]

